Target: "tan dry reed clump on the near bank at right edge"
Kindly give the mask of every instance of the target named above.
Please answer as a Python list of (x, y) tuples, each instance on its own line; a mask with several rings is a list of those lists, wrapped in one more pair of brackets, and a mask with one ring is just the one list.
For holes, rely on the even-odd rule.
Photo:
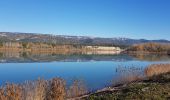
[(145, 69), (147, 77), (170, 72), (170, 64), (152, 64)]

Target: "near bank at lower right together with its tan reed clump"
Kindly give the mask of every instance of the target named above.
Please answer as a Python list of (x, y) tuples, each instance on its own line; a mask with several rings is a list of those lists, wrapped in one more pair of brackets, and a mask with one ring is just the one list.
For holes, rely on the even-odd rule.
[[(128, 98), (134, 99), (134, 98), (138, 98), (138, 99), (156, 99), (156, 98), (152, 98), (152, 96), (146, 96), (147, 94), (145, 94), (145, 91), (148, 92), (153, 92), (152, 88), (156, 88), (159, 90), (165, 88), (165, 92), (168, 91), (168, 94), (166, 94), (166, 96), (168, 95), (168, 97), (170, 98), (170, 64), (155, 64), (155, 65), (151, 65), (149, 66), (146, 70), (146, 77), (144, 77), (143, 79), (138, 79), (138, 80), (134, 80), (131, 82), (127, 82), (124, 84), (118, 84), (115, 86), (110, 86), (110, 87), (105, 87), (103, 89), (99, 89), (93, 93), (89, 93), (86, 95), (82, 95), (79, 97), (75, 97), (75, 98), (69, 98), (67, 100), (112, 100), (112, 99), (120, 99), (121, 100), (125, 100)], [(152, 87), (152, 85), (154, 85), (154, 87)], [(159, 87), (159, 88), (158, 88)], [(151, 88), (151, 89), (147, 89), (147, 88)], [(130, 90), (128, 90), (130, 89)], [(134, 89), (135, 91), (131, 91), (131, 89)], [(147, 90), (145, 90), (147, 89)], [(128, 91), (126, 91), (128, 90)], [(136, 91), (138, 90), (138, 91)], [(124, 93), (123, 91), (126, 91), (126, 93)], [(130, 92), (130, 94), (128, 94)], [(138, 95), (138, 92), (141, 92), (140, 95)], [(122, 95), (125, 95), (128, 98), (122, 98)], [(136, 94), (136, 96), (132, 96), (131, 94)], [(141, 96), (142, 95), (142, 96)], [(164, 95), (162, 93), (162, 95)], [(146, 96), (146, 97), (145, 97)], [(155, 96), (159, 96), (159, 95), (155, 95)], [(164, 96), (166, 98), (166, 96)], [(144, 98), (143, 98), (144, 97)], [(163, 99), (165, 99), (163, 98)]]

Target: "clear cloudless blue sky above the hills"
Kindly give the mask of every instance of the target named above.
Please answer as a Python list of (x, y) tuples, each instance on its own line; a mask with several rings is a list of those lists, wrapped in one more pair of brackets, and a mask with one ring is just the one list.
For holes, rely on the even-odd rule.
[(170, 40), (170, 0), (0, 0), (0, 31)]

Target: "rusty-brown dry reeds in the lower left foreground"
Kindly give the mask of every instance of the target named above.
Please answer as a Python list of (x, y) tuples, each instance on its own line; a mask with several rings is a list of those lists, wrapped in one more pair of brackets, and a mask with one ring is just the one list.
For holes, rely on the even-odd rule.
[(65, 100), (83, 95), (86, 88), (80, 81), (75, 81), (66, 89), (66, 82), (61, 78), (51, 80), (38, 79), (22, 84), (6, 84), (0, 88), (0, 100)]

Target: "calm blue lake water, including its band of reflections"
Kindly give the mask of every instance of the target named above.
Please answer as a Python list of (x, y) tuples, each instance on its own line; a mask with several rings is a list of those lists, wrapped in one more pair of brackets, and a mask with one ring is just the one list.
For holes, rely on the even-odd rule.
[(0, 84), (22, 83), (39, 77), (61, 77), (67, 85), (82, 80), (89, 90), (145, 76), (145, 68), (153, 63), (169, 63), (166, 55), (55, 55), (0, 54)]

